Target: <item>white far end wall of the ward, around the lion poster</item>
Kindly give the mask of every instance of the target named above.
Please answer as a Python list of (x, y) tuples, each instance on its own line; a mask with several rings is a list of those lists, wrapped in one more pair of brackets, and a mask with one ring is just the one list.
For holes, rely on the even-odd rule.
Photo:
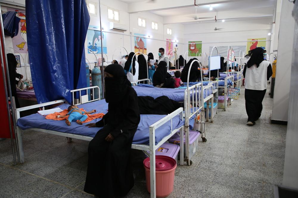
[[(245, 20), (234, 22), (197, 23), (195, 25), (184, 26), (184, 42), (202, 41), (202, 52), (209, 55), (209, 47), (228, 45), (247, 45), (247, 39), (266, 38), (266, 49), (270, 51), (270, 39), (268, 33), (271, 32), (271, 19)], [(214, 31), (215, 28), (224, 28)], [(188, 45), (184, 45), (187, 51)], [(221, 54), (226, 57), (226, 54)], [(236, 57), (238, 54), (236, 54)]]

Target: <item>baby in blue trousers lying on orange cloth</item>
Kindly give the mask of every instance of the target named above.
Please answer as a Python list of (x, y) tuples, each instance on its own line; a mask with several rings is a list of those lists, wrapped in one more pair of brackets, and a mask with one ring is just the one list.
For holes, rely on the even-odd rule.
[(72, 123), (72, 121), (77, 121), (78, 124), (82, 125), (83, 121), (85, 121), (87, 119), (87, 115), (86, 114), (91, 114), (91, 113), (95, 113), (96, 110), (92, 110), (92, 111), (81, 111), (79, 110), (79, 108), (77, 107), (77, 105), (70, 105), (68, 107), (68, 113), (66, 115), (62, 115), (59, 116), (59, 118), (64, 118), (67, 115), (69, 115), (69, 117), (67, 118), (67, 120), (65, 121), (65, 123), (70, 126), (70, 124)]

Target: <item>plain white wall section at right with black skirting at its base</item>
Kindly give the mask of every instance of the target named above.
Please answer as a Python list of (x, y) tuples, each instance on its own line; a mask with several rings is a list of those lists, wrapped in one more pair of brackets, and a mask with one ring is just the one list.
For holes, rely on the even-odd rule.
[(271, 120), (288, 121), (291, 60), (295, 21), (291, 15), (294, 4), (282, 1), (278, 37), (276, 77)]

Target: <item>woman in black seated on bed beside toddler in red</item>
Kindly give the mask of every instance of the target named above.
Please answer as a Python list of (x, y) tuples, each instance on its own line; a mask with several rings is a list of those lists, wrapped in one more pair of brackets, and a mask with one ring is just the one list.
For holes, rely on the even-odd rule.
[(167, 63), (160, 61), (153, 74), (153, 86), (158, 88), (175, 88), (175, 80), (167, 72)]

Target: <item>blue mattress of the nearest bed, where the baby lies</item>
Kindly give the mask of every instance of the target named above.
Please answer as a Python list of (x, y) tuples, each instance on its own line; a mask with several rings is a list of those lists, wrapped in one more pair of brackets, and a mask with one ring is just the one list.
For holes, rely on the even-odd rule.
[[(62, 104), (58, 107), (61, 109), (67, 109), (69, 104)], [(107, 113), (108, 104), (105, 100), (99, 100), (95, 102), (90, 102), (86, 104), (78, 105), (79, 108), (84, 108), (86, 111), (91, 111), (96, 109), (96, 113)], [(149, 126), (154, 124), (155, 122), (161, 120), (166, 115), (141, 115), (141, 121), (139, 123), (138, 129), (134, 135), (133, 144), (149, 144)], [(93, 120), (89, 123), (94, 123), (100, 121), (101, 118)], [(190, 123), (191, 128), (193, 127), (194, 120)], [(25, 116), (23, 118), (19, 118), (17, 121), (17, 126), (21, 129), (30, 129), (30, 128), (39, 128), (39, 129), (47, 129), (62, 133), (71, 133), (77, 135), (83, 135), (88, 137), (94, 137), (95, 134), (101, 128), (89, 128), (86, 127), (87, 123), (83, 123), (83, 125), (79, 125), (76, 122), (72, 122), (71, 126), (66, 125), (65, 121), (56, 121), (56, 120), (48, 120), (45, 119), (44, 116), (39, 113), (35, 113), (32, 115)], [(180, 126), (183, 126), (184, 122), (180, 120), (179, 115), (173, 118), (173, 129), (177, 129)], [(170, 134), (171, 129), (171, 121), (168, 121), (164, 125), (160, 126), (155, 130), (155, 143), (157, 144), (164, 138), (165, 136)]]

